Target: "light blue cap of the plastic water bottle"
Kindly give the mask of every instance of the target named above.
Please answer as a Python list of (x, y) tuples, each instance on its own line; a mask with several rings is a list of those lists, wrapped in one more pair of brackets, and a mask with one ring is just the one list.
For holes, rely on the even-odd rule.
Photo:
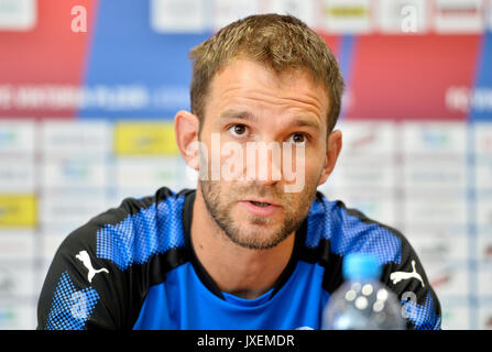
[(373, 254), (352, 253), (343, 260), (342, 275), (345, 279), (375, 279), (381, 276), (381, 265)]

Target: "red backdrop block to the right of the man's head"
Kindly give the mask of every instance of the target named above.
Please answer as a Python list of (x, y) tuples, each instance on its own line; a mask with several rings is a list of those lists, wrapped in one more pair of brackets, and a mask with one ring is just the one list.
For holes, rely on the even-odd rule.
[(466, 120), (446, 94), (473, 86), (480, 43), (480, 35), (359, 36), (346, 118)]

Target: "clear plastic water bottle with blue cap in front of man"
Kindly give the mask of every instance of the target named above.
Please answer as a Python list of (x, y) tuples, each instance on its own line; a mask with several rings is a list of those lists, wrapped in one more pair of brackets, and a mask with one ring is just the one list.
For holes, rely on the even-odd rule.
[(324, 330), (405, 330), (396, 295), (380, 280), (381, 265), (373, 255), (350, 254), (343, 261), (345, 283), (325, 307)]

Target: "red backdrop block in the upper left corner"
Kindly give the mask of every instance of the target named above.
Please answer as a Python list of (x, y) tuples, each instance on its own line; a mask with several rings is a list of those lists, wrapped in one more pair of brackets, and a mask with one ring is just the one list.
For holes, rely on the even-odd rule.
[[(87, 32), (73, 31), (81, 14), (72, 13), (77, 6), (86, 10)], [(0, 118), (75, 116), (73, 103), (53, 101), (46, 91), (83, 82), (96, 6), (96, 0), (36, 1), (32, 30), (0, 31)]]

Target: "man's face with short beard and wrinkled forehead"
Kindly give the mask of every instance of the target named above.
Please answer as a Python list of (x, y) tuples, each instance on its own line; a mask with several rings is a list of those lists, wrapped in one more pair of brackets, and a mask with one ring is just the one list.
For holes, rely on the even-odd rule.
[[(214, 77), (200, 129), (209, 177), (200, 177), (199, 187), (210, 216), (234, 243), (269, 249), (299, 228), (316, 187), (327, 177), (328, 109), (326, 90), (304, 72), (278, 76), (259, 63), (236, 59)], [(276, 143), (281, 157), (272, 150), (263, 154), (266, 158), (261, 152), (247, 157), (248, 147), (261, 143)], [(287, 179), (286, 167), (295, 170), (297, 180), (302, 177), (300, 189), (286, 191), (296, 182)], [(266, 178), (260, 175), (262, 168)], [(225, 177), (225, 169), (233, 176)], [(281, 177), (273, 176), (274, 170)], [(212, 173), (220, 177), (210, 177)]]

